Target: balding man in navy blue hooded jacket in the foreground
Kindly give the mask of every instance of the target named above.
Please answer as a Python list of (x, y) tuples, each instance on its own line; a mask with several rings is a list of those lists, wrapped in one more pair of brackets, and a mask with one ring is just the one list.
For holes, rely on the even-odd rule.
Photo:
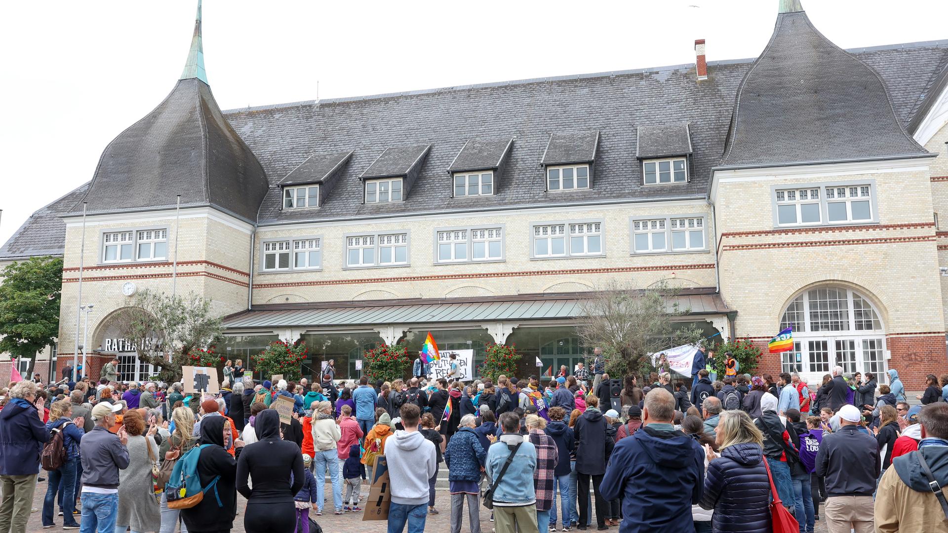
[(691, 531), (691, 505), (702, 496), (704, 450), (675, 430), (675, 397), (659, 387), (648, 392), (642, 429), (612, 450), (599, 491), (622, 499), (620, 533)]

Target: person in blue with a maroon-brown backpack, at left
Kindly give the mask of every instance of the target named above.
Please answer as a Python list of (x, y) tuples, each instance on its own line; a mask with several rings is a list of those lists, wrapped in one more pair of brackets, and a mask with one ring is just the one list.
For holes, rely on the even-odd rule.
[(43, 527), (52, 527), (56, 509), (56, 492), (61, 491), (63, 529), (78, 529), (73, 510), (76, 508), (76, 470), (79, 465), (79, 445), (82, 441), (82, 416), (70, 419), (72, 404), (69, 400), (53, 402), (49, 409), (46, 431), (50, 439), (43, 447), (41, 463), (46, 463), (46, 498), (43, 500)]

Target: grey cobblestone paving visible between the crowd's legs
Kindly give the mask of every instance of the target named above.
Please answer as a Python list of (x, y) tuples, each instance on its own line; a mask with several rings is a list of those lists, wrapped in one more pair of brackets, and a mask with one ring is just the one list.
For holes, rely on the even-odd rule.
[[(362, 486), (362, 503), (365, 502), (365, 497), (368, 495), (368, 485), (363, 484)], [(39, 510), (42, 510), (43, 507), (43, 497), (46, 495), (46, 482), (40, 482), (36, 486), (36, 493), (33, 498), (33, 506)], [(316, 516), (315, 511), (311, 511), (313, 520), (317, 521), (322, 527), (322, 530), (325, 533), (385, 533), (387, 531), (386, 522), (362, 522), (362, 513), (361, 512), (350, 512), (343, 514), (341, 516), (336, 516), (333, 514), (333, 496), (332, 496), (332, 486), (326, 486), (326, 496), (328, 498), (328, 503), (324, 506), (323, 512), (329, 511), (329, 514), (323, 514), (322, 516)], [(244, 506), (246, 505), (246, 500), (238, 495), (237, 496), (237, 518), (234, 519), (233, 533), (245, 533), (244, 530)], [(428, 521), (425, 523), (425, 531), (433, 531), (438, 533), (447, 533), (450, 531), (451, 517), (450, 517), (450, 495), (447, 493), (447, 488), (442, 488), (438, 490), (437, 495), (435, 496), (435, 508), (439, 511), (437, 515), (428, 515)], [(489, 522), (490, 519), (490, 510), (481, 507), (481, 531), (483, 533), (490, 533), (493, 529), (494, 523)], [(594, 511), (593, 511), (594, 512)], [(80, 521), (80, 518), (76, 518), (77, 521)], [(55, 518), (55, 526), (50, 527), (49, 529), (43, 529), (43, 521), (40, 517), (40, 512), (31, 513), (29, 516), (29, 523), (27, 524), (28, 533), (40, 533), (44, 531), (48, 532), (57, 532), (63, 530), (63, 517), (57, 516)], [(557, 524), (557, 529), (560, 528), (560, 524)], [(407, 529), (407, 528), (406, 528)], [(595, 518), (593, 515), (593, 526), (589, 529), (590, 531), (595, 531)], [(70, 530), (75, 531), (75, 530)], [(175, 530), (177, 531), (177, 530)], [(461, 526), (462, 533), (467, 533), (470, 531), (470, 526), (467, 521), (467, 509), (465, 508), (464, 512), (464, 523)], [(577, 531), (573, 529), (572, 531)], [(618, 531), (618, 527), (611, 527), (610, 531), (613, 533)], [(819, 521), (816, 523), (816, 533), (827, 533), (826, 523), (824, 521)], [(291, 533), (291, 532), (289, 532)]]

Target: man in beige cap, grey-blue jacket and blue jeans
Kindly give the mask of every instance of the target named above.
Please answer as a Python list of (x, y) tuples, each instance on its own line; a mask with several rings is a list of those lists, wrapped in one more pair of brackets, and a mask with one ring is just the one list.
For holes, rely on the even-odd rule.
[[(118, 515), (118, 470), (129, 464), (128, 433), (116, 423), (120, 403), (103, 402), (92, 408), (96, 426), (82, 435), (79, 454), (82, 458), (82, 531), (113, 531)], [(4, 409), (4, 412), (7, 410)]]

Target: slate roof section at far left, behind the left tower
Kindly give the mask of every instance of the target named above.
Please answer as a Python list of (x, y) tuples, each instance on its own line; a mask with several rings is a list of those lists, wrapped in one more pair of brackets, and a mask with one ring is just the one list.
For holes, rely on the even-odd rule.
[(78, 189), (57, 198), (42, 209), (29, 215), (27, 221), (0, 248), (0, 261), (28, 259), (39, 255), (62, 256), (65, 243), (65, 222), (60, 216), (82, 209), (82, 196), (89, 188), (83, 183)]

